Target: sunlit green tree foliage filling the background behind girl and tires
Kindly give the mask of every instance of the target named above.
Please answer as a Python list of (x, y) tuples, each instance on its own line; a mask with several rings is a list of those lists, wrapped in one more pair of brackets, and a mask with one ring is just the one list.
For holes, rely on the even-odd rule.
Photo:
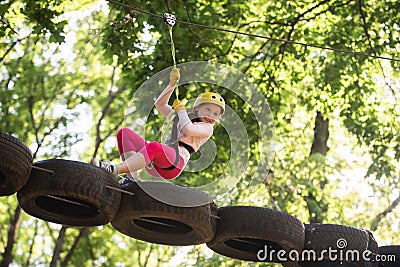
[[(142, 108), (133, 99), (138, 97), (135, 93), (149, 77), (172, 65), (168, 28), (159, 17), (141, 10), (262, 35), (266, 38), (179, 21), (173, 27), (178, 63), (211, 61), (239, 69), (266, 97), (274, 116), (274, 161), (254, 185), (254, 167), (267, 149), (254, 115), (259, 107), (249, 106), (226, 88), (180, 87), (182, 99), (193, 99), (206, 89), (220, 92), (249, 136), (246, 170), (217, 204), (277, 209), (305, 223), (374, 228), (379, 244), (400, 242), (394, 234), (399, 230), (398, 207), (374, 220), (398, 195), (400, 67), (398, 60), (372, 57), (399, 58), (398, 1), (131, 0), (123, 4), (61, 0), (0, 4), (1, 131), (25, 142), (35, 160), (88, 162), (97, 156), (117, 161), (115, 134)], [(154, 100), (150, 92), (140, 97)], [(329, 120), (326, 155), (311, 154), (317, 112)], [(159, 140), (164, 123), (157, 112), (150, 112), (146, 138)], [(226, 172), (230, 160), (238, 161), (231, 159), (235, 140), (221, 125), (212, 138), (217, 147), (213, 163), (199, 172), (184, 172), (174, 183), (208, 183)], [(0, 199), (2, 253), (17, 207), (15, 196)], [(60, 229), (23, 214), (12, 264), (49, 265)], [(170, 266), (174, 257), (180, 257), (181, 266), (277, 265), (230, 259), (205, 245), (185, 250), (149, 244), (110, 225), (82, 231), (66, 229), (57, 266), (64, 260), (65, 266)]]

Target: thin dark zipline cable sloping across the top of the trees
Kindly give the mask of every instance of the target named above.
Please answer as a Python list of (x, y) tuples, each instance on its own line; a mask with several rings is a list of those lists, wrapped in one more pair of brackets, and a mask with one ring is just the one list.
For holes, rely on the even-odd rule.
[[(139, 8), (131, 6), (131, 5), (119, 3), (119, 2), (116, 2), (114, 0), (107, 0), (107, 1), (110, 2), (110, 3), (114, 3), (114, 4), (117, 4), (117, 5), (129, 8), (131, 10), (135, 10), (135, 11), (138, 11), (138, 12), (153, 16), (153, 17), (157, 17), (157, 18), (163, 19), (162, 16), (159, 16), (157, 14), (154, 14), (154, 13), (139, 9)], [(229, 32), (229, 33), (234, 33), (234, 34), (239, 34), (239, 35), (246, 35), (246, 36), (260, 38), (260, 39), (267, 39), (267, 40), (270, 40), (270, 41), (277, 41), (277, 42), (283, 42), (283, 43), (289, 43), (289, 44), (296, 44), (296, 45), (302, 45), (302, 46), (306, 46), (306, 47), (314, 47), (314, 48), (319, 48), (319, 49), (323, 49), (323, 50), (330, 50), (330, 51), (335, 51), (335, 52), (340, 52), (340, 53), (345, 53), (345, 54), (353, 54), (353, 55), (358, 55), (358, 56), (364, 56), (364, 57), (371, 57), (371, 58), (376, 58), (376, 59), (384, 59), (384, 60), (400, 62), (400, 59), (395, 59), (395, 58), (391, 58), (391, 57), (377, 56), (377, 55), (372, 55), (372, 54), (367, 54), (367, 53), (362, 53), (362, 52), (357, 52), (357, 51), (352, 51), (352, 50), (345, 50), (345, 49), (333, 48), (333, 47), (328, 47), (328, 46), (321, 46), (321, 45), (315, 45), (315, 44), (302, 43), (302, 42), (293, 41), (293, 40), (268, 37), (268, 36), (264, 36), (264, 35), (260, 35), (260, 34), (253, 34), (253, 33), (248, 33), (248, 32), (240, 32), (240, 31), (229, 30), (229, 29), (225, 29), (225, 28), (219, 28), (219, 27), (213, 27), (213, 26), (208, 26), (208, 25), (203, 25), (203, 24), (197, 24), (197, 23), (193, 23), (193, 22), (187, 22), (187, 21), (183, 21), (183, 20), (176, 20), (176, 21), (179, 22), (179, 23), (185, 24), (185, 25), (189, 25), (189, 26), (196, 26), (196, 27), (200, 27), (200, 28), (206, 28), (206, 29), (217, 30), (217, 31), (222, 31), (222, 32)]]

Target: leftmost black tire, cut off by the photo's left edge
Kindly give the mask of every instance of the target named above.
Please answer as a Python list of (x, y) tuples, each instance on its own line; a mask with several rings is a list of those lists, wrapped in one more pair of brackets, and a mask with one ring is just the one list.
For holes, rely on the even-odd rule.
[(20, 190), (29, 179), (32, 152), (17, 138), (0, 132), (0, 196)]

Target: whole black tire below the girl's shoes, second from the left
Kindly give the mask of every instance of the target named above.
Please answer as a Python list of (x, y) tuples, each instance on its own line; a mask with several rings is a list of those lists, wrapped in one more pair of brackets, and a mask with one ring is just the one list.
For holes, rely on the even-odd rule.
[(68, 226), (97, 226), (111, 221), (121, 193), (110, 173), (92, 165), (62, 159), (36, 162), (28, 183), (17, 193), (21, 208), (42, 220)]

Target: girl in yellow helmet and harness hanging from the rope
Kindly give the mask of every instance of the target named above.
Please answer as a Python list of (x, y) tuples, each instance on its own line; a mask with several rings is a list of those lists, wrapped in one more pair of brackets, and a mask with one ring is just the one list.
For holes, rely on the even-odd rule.
[(156, 108), (168, 119), (176, 113), (172, 133), (166, 144), (148, 142), (131, 129), (122, 128), (117, 134), (122, 162), (112, 165), (93, 158), (94, 166), (115, 176), (127, 173), (120, 184), (133, 181), (132, 178), (137, 178), (137, 170), (149, 165), (152, 167), (146, 168), (146, 171), (163, 179), (174, 179), (183, 171), (190, 155), (213, 135), (215, 122), (225, 112), (225, 101), (217, 93), (206, 92), (196, 98), (192, 113), (188, 114), (184, 104), (178, 99), (170, 106), (168, 101), (179, 78), (179, 69), (173, 68), (169, 85), (155, 102)]

